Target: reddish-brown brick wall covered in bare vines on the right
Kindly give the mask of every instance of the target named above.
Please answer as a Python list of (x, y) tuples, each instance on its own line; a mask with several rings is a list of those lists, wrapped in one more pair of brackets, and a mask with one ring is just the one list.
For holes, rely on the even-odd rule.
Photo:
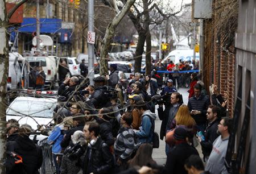
[(213, 1), (212, 19), (204, 19), (203, 81), (205, 86), (218, 86), (219, 93), (228, 100), (229, 117), (233, 117), (237, 16), (225, 19), (227, 22), (220, 24), (224, 7)]

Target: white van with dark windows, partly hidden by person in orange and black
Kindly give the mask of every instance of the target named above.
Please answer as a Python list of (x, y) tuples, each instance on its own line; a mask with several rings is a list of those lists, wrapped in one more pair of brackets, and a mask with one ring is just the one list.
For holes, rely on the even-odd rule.
[(28, 56), (26, 57), (28, 62), (28, 69), (32, 69), (34, 66), (42, 66), (43, 71), (46, 74), (46, 82), (44, 86), (55, 86), (56, 80), (56, 60), (54, 57), (48, 56)]

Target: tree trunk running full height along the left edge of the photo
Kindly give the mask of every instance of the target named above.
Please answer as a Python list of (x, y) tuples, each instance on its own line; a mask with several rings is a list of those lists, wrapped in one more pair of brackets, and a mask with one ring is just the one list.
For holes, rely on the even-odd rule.
[(8, 19), (6, 12), (6, 5), (4, 0), (0, 0), (0, 173), (6, 173), (5, 171), (5, 159), (6, 159), (6, 85), (9, 68), (9, 39), (7, 35)]

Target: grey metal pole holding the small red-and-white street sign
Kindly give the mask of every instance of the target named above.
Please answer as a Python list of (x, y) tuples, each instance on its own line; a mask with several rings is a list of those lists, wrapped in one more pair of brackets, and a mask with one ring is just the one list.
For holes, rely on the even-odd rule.
[[(94, 32), (94, 0), (88, 1), (88, 31)], [(88, 76), (90, 85), (94, 78), (94, 44), (88, 43)]]

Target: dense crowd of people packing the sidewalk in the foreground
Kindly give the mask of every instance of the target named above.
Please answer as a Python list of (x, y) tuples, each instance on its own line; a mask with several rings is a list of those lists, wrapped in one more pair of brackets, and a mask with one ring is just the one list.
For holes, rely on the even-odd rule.
[[(224, 159), (233, 123), (225, 117), (227, 103), (217, 86), (207, 95), (198, 75), (189, 73), (185, 105), (175, 78), (160, 92), (154, 71), (145, 77), (135, 73), (124, 88), (116, 68), (113, 64), (109, 76), (94, 78), (94, 86), (75, 76), (59, 86), (55, 124), (41, 130), (52, 146), (56, 173), (228, 173)], [(152, 159), (153, 148), (159, 147), (157, 117), (159, 138), (166, 142), (165, 165)], [(38, 173), (42, 150), (29, 139), (31, 132), (29, 125), (7, 123), (7, 173)], [(23, 160), (16, 164), (19, 156)]]

